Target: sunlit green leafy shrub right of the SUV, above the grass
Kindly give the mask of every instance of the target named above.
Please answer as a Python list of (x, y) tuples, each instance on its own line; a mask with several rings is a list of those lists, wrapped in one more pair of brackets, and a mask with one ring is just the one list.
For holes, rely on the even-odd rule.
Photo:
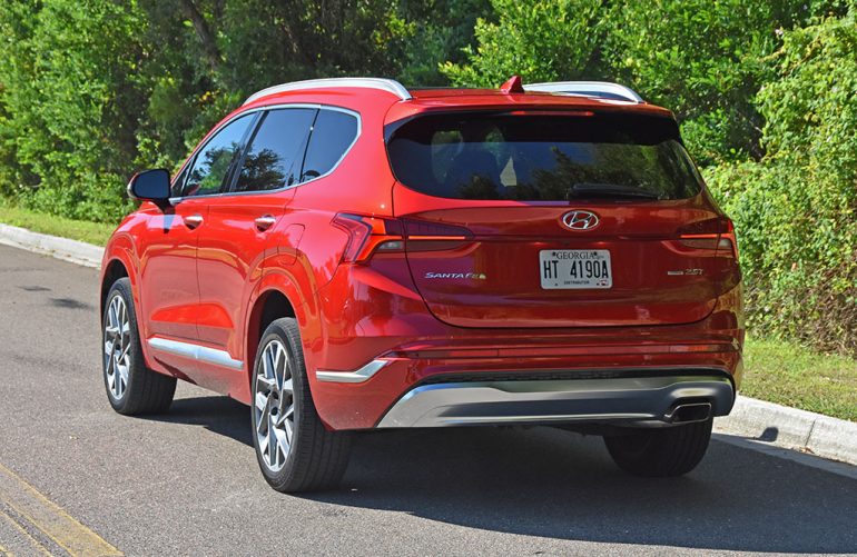
[(785, 33), (761, 162), (709, 168), (736, 221), (756, 334), (857, 354), (857, 21)]

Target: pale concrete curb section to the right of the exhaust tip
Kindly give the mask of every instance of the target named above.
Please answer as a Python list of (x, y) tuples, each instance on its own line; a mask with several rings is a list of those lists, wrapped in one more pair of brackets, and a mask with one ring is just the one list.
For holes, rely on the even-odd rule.
[(857, 465), (857, 422), (765, 400), (739, 395), (715, 431)]

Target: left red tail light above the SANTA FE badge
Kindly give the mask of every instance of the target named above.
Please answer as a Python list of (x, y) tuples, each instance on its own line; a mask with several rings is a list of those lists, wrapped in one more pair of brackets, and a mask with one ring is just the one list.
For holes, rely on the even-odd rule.
[(374, 253), (454, 249), (473, 238), (464, 227), (420, 220), (392, 219), (341, 212), (333, 225), (348, 235), (343, 262), (364, 262)]

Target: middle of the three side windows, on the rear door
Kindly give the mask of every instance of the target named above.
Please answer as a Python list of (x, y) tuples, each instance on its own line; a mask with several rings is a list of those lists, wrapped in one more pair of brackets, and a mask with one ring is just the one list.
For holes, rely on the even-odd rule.
[(265, 115), (244, 157), (235, 191), (264, 191), (296, 183), (315, 113), (309, 108), (286, 108)]

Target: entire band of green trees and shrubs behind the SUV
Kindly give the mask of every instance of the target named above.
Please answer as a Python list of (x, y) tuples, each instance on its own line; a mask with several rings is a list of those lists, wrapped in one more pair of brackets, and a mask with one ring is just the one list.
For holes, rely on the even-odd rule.
[(603, 79), (672, 109), (759, 330), (857, 350), (855, 0), (4, 0), (0, 196), (112, 222), (255, 90)]

